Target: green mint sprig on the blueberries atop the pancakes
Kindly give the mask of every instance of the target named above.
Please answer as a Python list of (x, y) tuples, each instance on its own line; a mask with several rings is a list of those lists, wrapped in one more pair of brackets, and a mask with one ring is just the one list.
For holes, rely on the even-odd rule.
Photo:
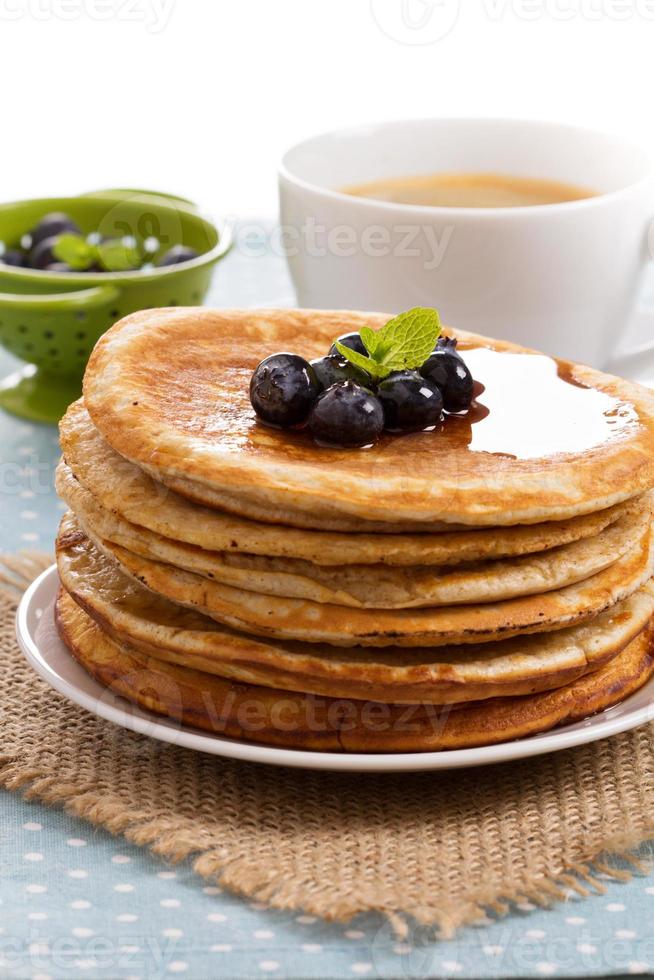
[(400, 313), (377, 331), (362, 327), (360, 336), (370, 356), (359, 354), (334, 341), (339, 354), (371, 374), (385, 378), (393, 371), (419, 368), (425, 363), (440, 336), (438, 310), (416, 306)]

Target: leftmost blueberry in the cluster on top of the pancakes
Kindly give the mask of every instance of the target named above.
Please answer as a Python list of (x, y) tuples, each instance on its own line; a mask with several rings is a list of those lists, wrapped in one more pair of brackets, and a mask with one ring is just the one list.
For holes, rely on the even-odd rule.
[(284, 428), (305, 421), (319, 392), (315, 371), (298, 354), (271, 354), (250, 380), (250, 401), (259, 418)]

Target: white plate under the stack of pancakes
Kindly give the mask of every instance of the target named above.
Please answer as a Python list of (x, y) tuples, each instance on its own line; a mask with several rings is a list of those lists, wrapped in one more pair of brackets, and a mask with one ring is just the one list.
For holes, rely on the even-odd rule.
[(29, 663), (55, 690), (87, 711), (135, 732), (172, 742), (184, 748), (247, 762), (303, 769), (336, 769), (344, 772), (416, 772), (426, 769), (461, 769), (510, 759), (524, 759), (594, 742), (654, 719), (654, 679), (622, 704), (602, 711), (576, 725), (534, 735), (516, 742), (451, 752), (411, 752), (386, 755), (306, 752), (277, 749), (207, 735), (174, 721), (142, 711), (102, 687), (77, 664), (59, 638), (53, 616), (58, 586), (56, 567), (43, 572), (23, 596), (16, 616), (18, 642)]

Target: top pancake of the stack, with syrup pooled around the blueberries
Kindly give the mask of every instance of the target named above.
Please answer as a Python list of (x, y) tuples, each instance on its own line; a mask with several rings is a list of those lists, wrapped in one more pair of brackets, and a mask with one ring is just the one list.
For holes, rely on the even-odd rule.
[(484, 391), (439, 431), (386, 434), (353, 451), (256, 420), (248, 384), (264, 356), (294, 350), (312, 358), (338, 334), (387, 320), (144, 310), (98, 341), (85, 404), (110, 445), (158, 480), (241, 515), (252, 506), (263, 519), (263, 509), (272, 521), (538, 523), (601, 510), (654, 485), (653, 392), (456, 331), (448, 333)]

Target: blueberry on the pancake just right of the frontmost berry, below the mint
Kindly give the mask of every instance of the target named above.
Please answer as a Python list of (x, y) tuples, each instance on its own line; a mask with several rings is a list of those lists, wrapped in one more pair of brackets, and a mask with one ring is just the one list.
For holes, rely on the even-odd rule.
[(395, 371), (377, 388), (384, 409), (385, 428), (391, 432), (419, 432), (438, 425), (443, 397), (436, 385), (418, 371)]

